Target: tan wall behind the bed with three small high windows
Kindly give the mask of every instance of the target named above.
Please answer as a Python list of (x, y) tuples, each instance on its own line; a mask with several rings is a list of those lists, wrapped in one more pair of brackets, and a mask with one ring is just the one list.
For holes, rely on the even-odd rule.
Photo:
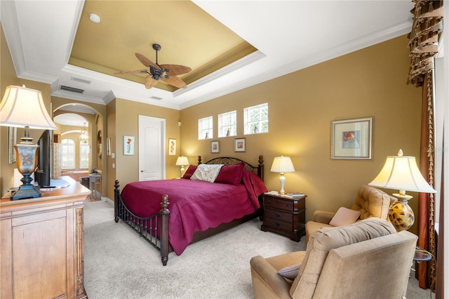
[[(420, 156), (421, 88), (406, 85), (408, 39), (401, 36), (278, 79), (258, 84), (180, 112), (181, 150), (194, 161), (239, 157), (257, 165), (262, 154), (265, 183), (279, 190), (279, 174), (270, 173), (274, 157), (290, 156), (295, 173), (286, 174), (286, 191), (306, 193), (307, 220), (315, 210), (350, 207), (356, 190), (379, 173), (387, 155), (399, 148)], [(269, 133), (243, 135), (243, 108), (268, 102)], [(198, 140), (198, 119), (236, 109), (236, 138), (246, 138), (246, 152), (234, 153), (234, 137), (220, 141), (210, 154), (211, 140)], [(373, 161), (330, 159), (331, 121), (374, 117)], [(395, 190), (385, 190), (389, 194)], [(397, 190), (396, 190), (397, 191)], [(417, 194), (410, 206), (417, 211)]]

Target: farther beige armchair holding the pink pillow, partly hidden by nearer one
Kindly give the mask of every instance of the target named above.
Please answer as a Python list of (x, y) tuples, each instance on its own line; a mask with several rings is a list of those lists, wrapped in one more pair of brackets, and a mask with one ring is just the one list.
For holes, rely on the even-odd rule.
[[(359, 220), (375, 217), (389, 221), (388, 211), (394, 201), (396, 201), (395, 197), (391, 197), (389, 194), (378, 190), (375, 187), (363, 185), (358, 188), (356, 200), (354, 201), (351, 209), (360, 211)], [(314, 212), (314, 220), (307, 221), (306, 223), (306, 246), (308, 244), (309, 237), (316, 230), (324, 227), (333, 227), (333, 225), (330, 225), (329, 222), (334, 215), (335, 212), (319, 210)]]

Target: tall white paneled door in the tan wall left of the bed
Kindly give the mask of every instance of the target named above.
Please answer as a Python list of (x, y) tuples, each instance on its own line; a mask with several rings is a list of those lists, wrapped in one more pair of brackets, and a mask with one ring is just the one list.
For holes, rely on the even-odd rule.
[(166, 178), (166, 120), (139, 115), (139, 180)]

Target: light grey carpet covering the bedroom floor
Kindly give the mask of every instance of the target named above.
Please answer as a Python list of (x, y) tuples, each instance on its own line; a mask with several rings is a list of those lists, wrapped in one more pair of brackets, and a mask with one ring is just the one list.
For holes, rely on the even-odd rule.
[[(300, 242), (260, 230), (251, 220), (170, 253), (159, 251), (131, 227), (114, 221), (109, 199), (86, 201), (84, 209), (84, 287), (90, 299), (253, 298), (249, 261), (305, 250)], [(429, 298), (429, 290), (410, 278), (407, 298)]]

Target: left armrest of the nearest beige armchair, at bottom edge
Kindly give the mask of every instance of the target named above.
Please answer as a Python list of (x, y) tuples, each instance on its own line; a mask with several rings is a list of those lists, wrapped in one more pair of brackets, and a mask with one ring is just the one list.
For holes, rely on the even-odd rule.
[(291, 298), (291, 285), (262, 256), (250, 260), (255, 298)]

